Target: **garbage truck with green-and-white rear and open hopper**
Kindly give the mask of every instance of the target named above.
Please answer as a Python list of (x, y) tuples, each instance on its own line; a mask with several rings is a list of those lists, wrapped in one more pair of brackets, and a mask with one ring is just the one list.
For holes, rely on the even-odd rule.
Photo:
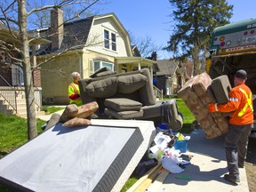
[[(234, 86), (236, 70), (247, 72), (247, 84), (252, 90), (254, 129), (256, 137), (256, 19), (233, 22), (212, 31), (211, 46), (205, 53), (206, 72), (213, 78), (227, 75)], [(254, 135), (255, 133), (255, 135)]]

